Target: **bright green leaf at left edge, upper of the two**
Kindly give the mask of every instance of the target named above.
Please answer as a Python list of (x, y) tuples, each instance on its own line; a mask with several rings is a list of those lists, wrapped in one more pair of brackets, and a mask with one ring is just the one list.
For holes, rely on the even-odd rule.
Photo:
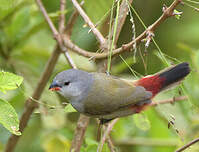
[(23, 81), (23, 77), (10, 72), (0, 72), (0, 91), (6, 93), (7, 90), (18, 88)]

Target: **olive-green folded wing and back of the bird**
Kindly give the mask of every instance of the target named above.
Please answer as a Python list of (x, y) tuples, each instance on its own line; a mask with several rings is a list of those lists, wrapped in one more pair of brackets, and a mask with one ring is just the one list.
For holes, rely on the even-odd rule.
[(149, 102), (152, 94), (141, 86), (103, 73), (93, 73), (94, 82), (84, 100), (85, 111), (106, 114), (129, 105)]

